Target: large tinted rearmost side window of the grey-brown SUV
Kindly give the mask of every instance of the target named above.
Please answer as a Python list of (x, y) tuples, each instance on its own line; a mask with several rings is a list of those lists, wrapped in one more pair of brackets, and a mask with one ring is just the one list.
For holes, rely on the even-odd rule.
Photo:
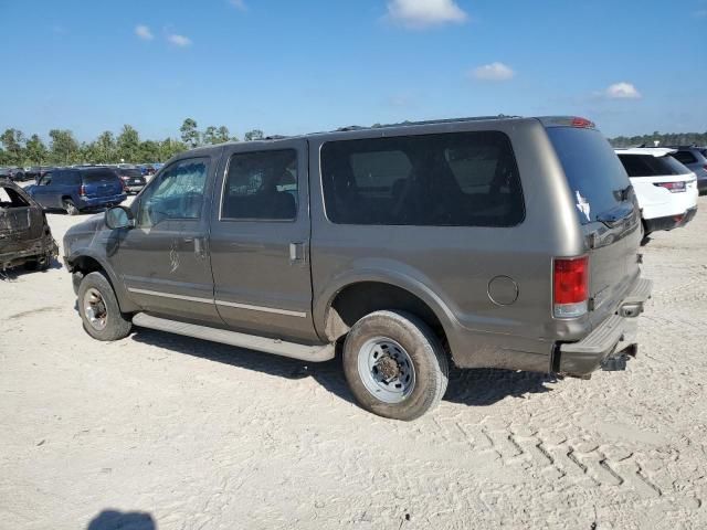
[(525, 215), (510, 141), (497, 131), (327, 142), (321, 180), (334, 223), (513, 226)]

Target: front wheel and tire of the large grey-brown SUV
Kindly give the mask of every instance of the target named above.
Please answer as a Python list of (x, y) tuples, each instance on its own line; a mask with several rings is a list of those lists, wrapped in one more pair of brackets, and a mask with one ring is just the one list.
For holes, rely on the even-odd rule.
[(78, 286), (78, 312), (84, 329), (94, 339), (120, 340), (128, 336), (133, 322), (120, 312), (110, 282), (103, 273), (84, 276)]

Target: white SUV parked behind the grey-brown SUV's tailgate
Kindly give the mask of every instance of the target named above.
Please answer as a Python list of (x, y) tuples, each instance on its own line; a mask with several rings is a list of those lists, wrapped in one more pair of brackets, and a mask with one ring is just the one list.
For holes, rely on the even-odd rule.
[(639, 199), (644, 235), (692, 221), (697, 213), (697, 179), (672, 157), (675, 149), (636, 147), (616, 153)]

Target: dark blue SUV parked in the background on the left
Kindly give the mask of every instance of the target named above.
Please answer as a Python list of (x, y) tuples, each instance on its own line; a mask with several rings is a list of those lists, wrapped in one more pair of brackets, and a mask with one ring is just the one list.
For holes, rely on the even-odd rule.
[(45, 210), (61, 209), (70, 215), (114, 206), (126, 199), (115, 171), (98, 167), (55, 169), (27, 190)]

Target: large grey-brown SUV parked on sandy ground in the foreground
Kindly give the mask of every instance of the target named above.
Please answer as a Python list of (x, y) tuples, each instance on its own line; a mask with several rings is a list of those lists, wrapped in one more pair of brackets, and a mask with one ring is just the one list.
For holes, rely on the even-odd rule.
[(173, 158), (130, 206), (73, 226), (86, 331), (133, 325), (326, 361), (412, 420), (447, 367), (588, 378), (636, 351), (641, 216), (583, 118), (430, 121)]

